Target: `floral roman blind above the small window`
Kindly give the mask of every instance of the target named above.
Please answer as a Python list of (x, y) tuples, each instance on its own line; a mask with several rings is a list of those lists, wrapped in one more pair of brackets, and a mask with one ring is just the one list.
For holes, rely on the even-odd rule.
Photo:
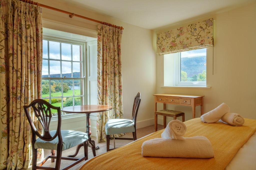
[(157, 34), (156, 54), (170, 54), (180, 51), (200, 49), (213, 46), (213, 18), (186, 27)]

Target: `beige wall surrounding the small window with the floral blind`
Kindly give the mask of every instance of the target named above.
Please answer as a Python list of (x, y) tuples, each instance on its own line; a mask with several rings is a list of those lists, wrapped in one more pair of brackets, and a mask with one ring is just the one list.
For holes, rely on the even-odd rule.
[[(210, 17), (215, 19), (214, 75), (212, 58), (207, 57), (207, 84), (211, 88), (160, 87), (163, 85), (163, 56), (157, 56), (156, 91), (204, 95), (204, 113), (225, 102), (230, 106), (231, 112), (256, 119), (256, 3)], [(172, 28), (187, 24), (189, 23)], [(160, 31), (163, 30), (157, 32)], [(158, 106), (162, 107), (160, 104)], [(192, 118), (190, 107), (175, 105), (168, 108), (184, 111), (186, 120)], [(196, 117), (200, 116), (199, 109), (200, 107), (196, 109)]]

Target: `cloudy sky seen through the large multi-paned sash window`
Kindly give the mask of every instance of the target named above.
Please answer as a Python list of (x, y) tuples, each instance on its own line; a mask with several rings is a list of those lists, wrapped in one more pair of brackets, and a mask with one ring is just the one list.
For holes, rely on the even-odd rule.
[[(80, 46), (72, 45), (73, 61), (80, 61)], [(43, 58), (48, 58), (47, 41), (43, 40)], [(60, 59), (60, 43), (49, 41), (49, 58)], [(62, 74), (71, 73), (71, 44), (61, 43)], [(73, 62), (73, 72), (80, 72), (80, 63)], [(42, 75), (48, 74), (48, 60), (43, 60)], [(50, 60), (50, 74), (60, 74), (60, 61)]]

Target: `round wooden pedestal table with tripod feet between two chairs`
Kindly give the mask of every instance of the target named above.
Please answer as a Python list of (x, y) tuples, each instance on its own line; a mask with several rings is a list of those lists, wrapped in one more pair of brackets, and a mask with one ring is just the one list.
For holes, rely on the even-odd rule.
[[(90, 130), (90, 114), (96, 112), (104, 112), (111, 110), (111, 106), (106, 105), (79, 105), (79, 106), (69, 106), (62, 108), (61, 111), (65, 113), (83, 113), (86, 114), (86, 133), (88, 134), (88, 144), (92, 149), (93, 156), (96, 156), (96, 150), (100, 149), (98, 146), (95, 147), (95, 141), (91, 140), (91, 130)], [(76, 149), (76, 153), (69, 155), (68, 157), (75, 157), (79, 149), (83, 146), (83, 143), (79, 144)]]

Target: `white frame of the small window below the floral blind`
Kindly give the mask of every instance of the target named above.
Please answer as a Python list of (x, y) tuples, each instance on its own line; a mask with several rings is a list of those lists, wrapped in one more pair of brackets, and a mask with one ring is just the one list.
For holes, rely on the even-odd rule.
[[(207, 51), (207, 48), (206, 48)], [(206, 76), (206, 81), (194, 81), (194, 82), (182, 82), (181, 79), (181, 69), (180, 69), (180, 58), (181, 58), (181, 52), (175, 54), (175, 59), (174, 59), (174, 85), (175, 86), (206, 86), (207, 82), (207, 76)], [(206, 55), (206, 60), (207, 60), (207, 55)], [(207, 65), (206, 65), (207, 68)]]

